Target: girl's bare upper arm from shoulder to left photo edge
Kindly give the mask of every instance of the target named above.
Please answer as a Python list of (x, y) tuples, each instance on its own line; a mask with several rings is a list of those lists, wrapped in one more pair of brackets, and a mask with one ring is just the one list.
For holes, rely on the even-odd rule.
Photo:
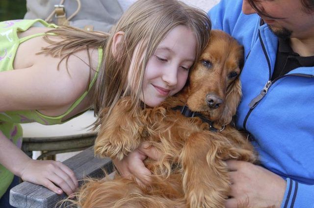
[[(96, 69), (98, 51), (91, 49), (90, 54), (92, 67)], [(87, 90), (94, 77), (94, 71), (87, 65), (87, 51), (71, 55), (68, 63), (45, 54), (33, 59), (27, 68), (0, 72), (0, 112), (60, 110), (63, 112), (58, 115), (61, 115)]]

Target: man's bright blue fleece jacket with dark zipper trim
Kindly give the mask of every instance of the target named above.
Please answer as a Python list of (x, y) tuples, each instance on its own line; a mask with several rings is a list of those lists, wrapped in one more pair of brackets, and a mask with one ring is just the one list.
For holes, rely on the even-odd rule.
[(270, 82), (278, 39), (258, 15), (241, 8), (242, 0), (221, 0), (209, 11), (212, 28), (244, 46), (237, 127), (253, 135), (262, 165), (287, 180), (281, 207), (314, 208), (314, 67)]

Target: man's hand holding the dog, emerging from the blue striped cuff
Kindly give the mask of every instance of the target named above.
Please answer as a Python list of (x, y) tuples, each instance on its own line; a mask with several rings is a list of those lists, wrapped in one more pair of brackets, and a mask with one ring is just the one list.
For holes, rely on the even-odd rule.
[(286, 190), (286, 181), (269, 170), (249, 162), (230, 160), (230, 196), (226, 208), (237, 208), (238, 203), (249, 203), (249, 207), (281, 207)]

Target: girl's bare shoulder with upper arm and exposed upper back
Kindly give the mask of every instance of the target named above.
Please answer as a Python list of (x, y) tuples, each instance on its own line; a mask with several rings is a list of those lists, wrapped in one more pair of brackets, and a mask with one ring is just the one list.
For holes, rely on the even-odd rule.
[[(46, 31), (47, 28), (34, 28), (21, 37)], [(50, 54), (37, 54), (46, 46), (49, 44), (42, 37), (32, 38), (19, 46), (14, 69), (1, 72), (0, 81), (7, 82), (3, 84), (0, 95), (7, 97), (8, 102), (0, 112), (42, 110), (51, 112), (51, 115), (53, 112), (56, 115), (62, 114), (62, 111), (66, 111), (88, 90), (99, 65), (98, 49), (81, 50), (62, 60), (61, 57), (53, 57)], [(87, 107), (90, 102), (85, 105)]]

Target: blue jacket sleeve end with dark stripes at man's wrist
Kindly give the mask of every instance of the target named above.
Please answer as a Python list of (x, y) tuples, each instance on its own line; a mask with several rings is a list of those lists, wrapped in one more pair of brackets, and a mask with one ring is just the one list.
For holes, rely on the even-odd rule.
[(281, 208), (314, 208), (314, 185), (286, 179), (287, 188)]

